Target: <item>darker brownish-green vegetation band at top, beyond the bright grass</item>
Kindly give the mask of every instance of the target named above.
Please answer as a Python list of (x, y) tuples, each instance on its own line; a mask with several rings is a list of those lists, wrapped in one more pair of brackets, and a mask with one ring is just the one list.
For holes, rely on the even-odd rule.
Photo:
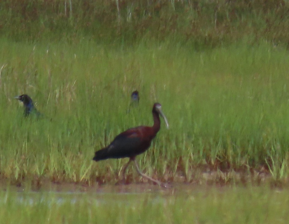
[[(65, 1), (0, 2), (0, 34), (15, 41), (83, 37), (98, 43), (138, 44), (167, 39), (197, 50), (228, 46), (250, 37), (288, 48), (289, 3), (285, 0), (235, 1)], [(116, 3), (119, 3), (117, 7)]]

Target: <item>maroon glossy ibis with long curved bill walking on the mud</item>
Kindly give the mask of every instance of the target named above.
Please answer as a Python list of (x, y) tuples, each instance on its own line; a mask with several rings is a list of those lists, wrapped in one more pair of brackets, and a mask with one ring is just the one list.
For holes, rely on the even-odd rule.
[(131, 161), (134, 161), (134, 164), (137, 167), (137, 171), (141, 176), (148, 178), (149, 180), (157, 183), (158, 185), (166, 187), (166, 185), (163, 185), (158, 180), (155, 180), (143, 174), (139, 170), (139, 166), (135, 161), (135, 157), (137, 155), (145, 152), (148, 149), (148, 147), (150, 147), (152, 139), (155, 138), (157, 132), (159, 131), (161, 127), (159, 115), (163, 117), (163, 119), (166, 122), (166, 126), (168, 128), (169, 127), (168, 120), (161, 111), (161, 104), (155, 103), (152, 108), (152, 116), (154, 119), (154, 124), (152, 127), (139, 126), (135, 128), (130, 128), (120, 133), (118, 136), (114, 138), (114, 140), (107, 147), (100, 149), (99, 151), (96, 151), (93, 160), (99, 161), (110, 158), (117, 159), (128, 157), (130, 158), (130, 160), (123, 169), (123, 178), (128, 165), (130, 164)]

